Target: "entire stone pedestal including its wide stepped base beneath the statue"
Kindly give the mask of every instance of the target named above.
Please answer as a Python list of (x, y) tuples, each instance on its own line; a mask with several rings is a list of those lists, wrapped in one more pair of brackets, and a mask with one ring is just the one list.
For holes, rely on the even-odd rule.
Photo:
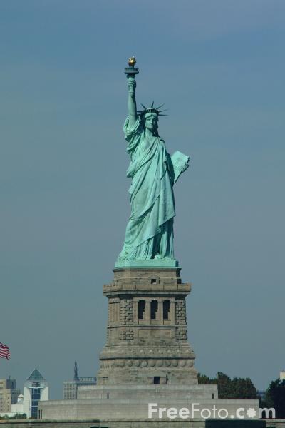
[[(226, 409), (228, 419), (236, 418), (241, 407), (258, 412), (258, 400), (221, 400), (217, 385), (197, 384), (195, 354), (187, 342), (185, 297), (190, 290), (179, 267), (115, 268), (113, 282), (103, 286), (108, 326), (98, 384), (79, 387), (74, 401), (39, 402), (43, 419), (95, 419), (98, 427), (110, 428), (172, 428), (174, 421), (166, 414), (149, 418), (150, 403), (161, 409), (198, 406), (211, 414), (214, 408)], [(207, 425), (202, 418), (197, 413), (178, 418), (175, 426), (202, 428)]]

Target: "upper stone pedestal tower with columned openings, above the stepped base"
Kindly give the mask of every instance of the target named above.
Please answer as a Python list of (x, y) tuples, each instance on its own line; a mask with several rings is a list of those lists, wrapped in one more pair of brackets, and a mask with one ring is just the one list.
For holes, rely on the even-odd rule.
[(108, 297), (107, 343), (98, 385), (197, 384), (195, 354), (187, 342), (180, 268), (118, 268), (103, 286)]

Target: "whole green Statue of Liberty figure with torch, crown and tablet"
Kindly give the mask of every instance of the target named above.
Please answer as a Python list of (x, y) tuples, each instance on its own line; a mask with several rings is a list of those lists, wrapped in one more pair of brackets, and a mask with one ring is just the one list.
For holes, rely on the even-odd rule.
[(128, 117), (123, 129), (128, 142), (131, 213), (118, 263), (127, 260), (175, 260), (173, 184), (188, 166), (189, 157), (180, 152), (170, 157), (158, 133), (160, 107), (154, 103), (137, 111), (135, 101), (135, 58), (125, 68), (128, 80)]

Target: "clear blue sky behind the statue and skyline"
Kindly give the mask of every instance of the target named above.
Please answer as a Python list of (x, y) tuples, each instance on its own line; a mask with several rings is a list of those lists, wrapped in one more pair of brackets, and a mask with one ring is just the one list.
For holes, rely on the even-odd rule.
[(191, 166), (176, 186), (175, 255), (197, 369), (285, 367), (283, 0), (2, 0), (0, 378), (35, 366), (95, 375), (103, 283), (130, 213), (123, 68), (138, 102), (165, 103), (160, 134)]

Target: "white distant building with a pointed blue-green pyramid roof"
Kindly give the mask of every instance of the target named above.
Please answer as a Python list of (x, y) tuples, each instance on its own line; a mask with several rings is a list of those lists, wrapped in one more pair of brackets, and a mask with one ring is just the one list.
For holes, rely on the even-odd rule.
[(38, 418), (38, 402), (48, 400), (48, 383), (38, 369), (33, 370), (24, 384), (24, 397), (19, 397), (16, 406), (20, 409), (22, 405), (23, 412), (27, 417)]

